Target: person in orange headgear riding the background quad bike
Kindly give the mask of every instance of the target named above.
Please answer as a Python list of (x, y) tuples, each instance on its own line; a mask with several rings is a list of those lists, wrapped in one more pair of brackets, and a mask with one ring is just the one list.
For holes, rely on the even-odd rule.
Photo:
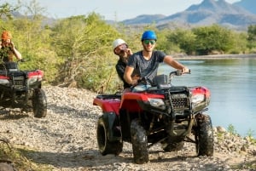
[(17, 60), (22, 59), (20, 52), (15, 48), (15, 43), (13, 43), (11, 39), (11, 33), (9, 31), (3, 31), (2, 42), (0, 44), (0, 57), (2, 62), (14, 61), (14, 57)]

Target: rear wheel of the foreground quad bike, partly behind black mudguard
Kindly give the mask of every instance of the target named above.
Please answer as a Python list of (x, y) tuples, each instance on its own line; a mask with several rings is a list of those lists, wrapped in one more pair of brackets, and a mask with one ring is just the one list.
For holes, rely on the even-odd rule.
[(108, 123), (105, 123), (102, 117), (98, 119), (96, 137), (99, 151), (103, 156), (107, 154), (119, 155), (123, 150), (123, 142), (108, 140)]

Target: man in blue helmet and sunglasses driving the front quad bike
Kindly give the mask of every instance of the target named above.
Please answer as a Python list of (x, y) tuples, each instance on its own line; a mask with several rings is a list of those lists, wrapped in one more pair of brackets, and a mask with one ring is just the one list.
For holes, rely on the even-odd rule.
[[(143, 50), (132, 54), (125, 67), (124, 79), (130, 86), (135, 86), (132, 91), (143, 91), (151, 87), (154, 77), (157, 75), (157, 69), (160, 62), (165, 62), (167, 65), (172, 66), (182, 73), (189, 72), (189, 68), (183, 66), (177, 60), (174, 60), (171, 55), (166, 55), (164, 52), (154, 50), (157, 37), (154, 31), (144, 31), (141, 38)], [(145, 78), (143, 84), (137, 83), (137, 80), (131, 79), (131, 73), (134, 70), (140, 72), (140, 76)], [(137, 85), (138, 84), (138, 85)]]

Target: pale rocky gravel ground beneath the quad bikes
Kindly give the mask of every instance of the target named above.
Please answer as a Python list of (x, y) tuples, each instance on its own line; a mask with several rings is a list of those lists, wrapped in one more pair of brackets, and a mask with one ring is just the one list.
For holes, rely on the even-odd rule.
[[(96, 94), (78, 88), (45, 87), (48, 114), (35, 118), (20, 109), (0, 111), (0, 137), (13, 145), (26, 146), (26, 157), (55, 171), (87, 170), (255, 170), (256, 146), (249, 138), (214, 127), (213, 157), (196, 157), (195, 145), (182, 151), (164, 152), (160, 145), (149, 149), (146, 164), (135, 164), (131, 145), (124, 144), (119, 156), (102, 157), (96, 143), (96, 120), (101, 109), (92, 105)], [(253, 165), (248, 168), (247, 164)], [(29, 170), (29, 169), (28, 169)]]

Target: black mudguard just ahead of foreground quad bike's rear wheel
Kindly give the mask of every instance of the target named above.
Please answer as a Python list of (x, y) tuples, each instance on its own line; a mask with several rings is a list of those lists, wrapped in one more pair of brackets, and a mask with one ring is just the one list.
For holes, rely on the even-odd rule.
[(105, 112), (102, 115), (104, 123), (108, 125), (108, 140), (121, 140), (121, 130), (119, 127), (119, 117), (114, 112)]

